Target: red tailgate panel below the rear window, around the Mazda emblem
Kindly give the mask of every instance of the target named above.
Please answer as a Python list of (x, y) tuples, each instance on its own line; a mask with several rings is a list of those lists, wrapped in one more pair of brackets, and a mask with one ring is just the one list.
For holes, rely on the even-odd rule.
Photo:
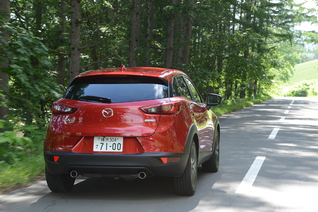
[[(107, 104), (62, 99), (59, 102), (78, 108), (73, 114), (63, 115), (63, 120), (75, 120), (72, 123), (63, 121), (63, 129), (67, 135), (105, 136), (107, 134), (107, 136), (144, 137), (154, 133), (160, 120), (160, 114), (146, 114), (139, 108), (166, 101), (153, 99)], [(107, 108), (114, 111), (114, 116), (109, 118), (102, 116), (102, 111)], [(145, 122), (146, 119), (155, 121)]]

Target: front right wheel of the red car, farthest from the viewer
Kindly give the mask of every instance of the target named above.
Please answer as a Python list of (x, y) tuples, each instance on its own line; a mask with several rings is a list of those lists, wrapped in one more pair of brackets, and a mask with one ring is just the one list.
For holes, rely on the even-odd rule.
[(211, 158), (202, 164), (202, 169), (205, 172), (218, 172), (220, 163), (220, 135), (219, 131), (216, 133), (216, 144)]

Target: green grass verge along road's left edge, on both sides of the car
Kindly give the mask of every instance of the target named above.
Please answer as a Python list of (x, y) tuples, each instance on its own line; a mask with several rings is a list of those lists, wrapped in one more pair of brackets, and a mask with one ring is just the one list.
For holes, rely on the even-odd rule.
[[(218, 116), (246, 108), (250, 105), (270, 99), (270, 96), (255, 98), (255, 100), (238, 99), (236, 101), (224, 101), (221, 105), (211, 108)], [(0, 164), (0, 194), (29, 186), (38, 179), (45, 179), (44, 160), (42, 151), (23, 152), (13, 164)]]

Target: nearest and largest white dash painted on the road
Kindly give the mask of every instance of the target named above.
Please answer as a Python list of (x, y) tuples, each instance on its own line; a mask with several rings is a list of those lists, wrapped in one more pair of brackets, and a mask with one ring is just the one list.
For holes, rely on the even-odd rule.
[(263, 164), (266, 156), (257, 156), (252, 166), (249, 168), (241, 184), (236, 189), (235, 193), (247, 194), (252, 188), (255, 178)]

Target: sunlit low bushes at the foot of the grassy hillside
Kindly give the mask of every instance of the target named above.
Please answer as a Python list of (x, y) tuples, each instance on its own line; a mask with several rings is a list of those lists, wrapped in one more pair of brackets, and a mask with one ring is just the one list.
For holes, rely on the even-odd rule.
[(317, 96), (318, 95), (318, 80), (302, 80), (294, 84), (284, 96)]

